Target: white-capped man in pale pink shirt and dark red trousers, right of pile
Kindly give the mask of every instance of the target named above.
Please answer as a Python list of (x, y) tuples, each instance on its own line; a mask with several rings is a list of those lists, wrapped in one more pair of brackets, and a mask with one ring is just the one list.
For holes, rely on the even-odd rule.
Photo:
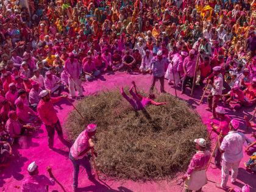
[(215, 66), (213, 68), (213, 75), (214, 80), (208, 80), (208, 84), (212, 85), (211, 93), (209, 94), (207, 100), (208, 100), (208, 108), (207, 110), (210, 110), (213, 115), (210, 117), (210, 119), (216, 118), (216, 112), (215, 108), (218, 105), (219, 98), (221, 98), (222, 95), (222, 88), (223, 88), (223, 77), (221, 74), (221, 66)]

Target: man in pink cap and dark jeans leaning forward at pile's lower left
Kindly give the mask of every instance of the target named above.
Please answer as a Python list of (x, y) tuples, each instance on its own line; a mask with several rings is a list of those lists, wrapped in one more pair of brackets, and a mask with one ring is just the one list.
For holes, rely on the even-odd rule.
[[(69, 159), (73, 163), (74, 171), (73, 171), (73, 190), (77, 190), (78, 185), (78, 174), (79, 174), (79, 166), (84, 166), (85, 171), (87, 172), (88, 179), (93, 179), (93, 174), (91, 173), (91, 164), (87, 156), (87, 152), (93, 148), (94, 144), (91, 141), (91, 137), (93, 137), (96, 133), (97, 126), (96, 124), (89, 124), (85, 130), (80, 133), (80, 135), (76, 138), (73, 146), (70, 148)], [(97, 154), (94, 154), (97, 156)]]

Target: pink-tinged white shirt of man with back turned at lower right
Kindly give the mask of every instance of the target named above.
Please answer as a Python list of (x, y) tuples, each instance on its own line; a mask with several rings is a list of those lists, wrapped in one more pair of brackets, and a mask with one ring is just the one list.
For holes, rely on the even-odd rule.
[(221, 150), (224, 151), (222, 159), (229, 163), (240, 162), (243, 158), (243, 144), (245, 137), (243, 133), (230, 131), (221, 143)]

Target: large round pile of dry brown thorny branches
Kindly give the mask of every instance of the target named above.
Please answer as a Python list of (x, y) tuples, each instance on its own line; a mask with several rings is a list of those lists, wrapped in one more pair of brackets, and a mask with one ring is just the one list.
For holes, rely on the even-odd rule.
[(85, 124), (96, 123), (98, 168), (108, 178), (168, 179), (187, 169), (193, 140), (206, 138), (207, 130), (186, 102), (169, 94), (156, 101), (168, 104), (135, 112), (118, 90), (89, 96), (77, 103), (85, 119), (76, 111), (69, 114), (69, 139), (75, 140)]

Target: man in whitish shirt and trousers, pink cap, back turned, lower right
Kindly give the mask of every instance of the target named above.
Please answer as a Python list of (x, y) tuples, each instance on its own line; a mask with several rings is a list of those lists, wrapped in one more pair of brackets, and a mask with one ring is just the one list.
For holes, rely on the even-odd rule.
[[(227, 181), (229, 180), (229, 169), (231, 172), (231, 183), (236, 182), (238, 175), (238, 166), (243, 158), (243, 144), (245, 137), (243, 133), (237, 131), (239, 122), (232, 119), (229, 124), (229, 133), (223, 138), (222, 134), (218, 136), (218, 149), (223, 153), (221, 168), (221, 184), (216, 187), (227, 190)], [(222, 143), (221, 143), (222, 140)]]

